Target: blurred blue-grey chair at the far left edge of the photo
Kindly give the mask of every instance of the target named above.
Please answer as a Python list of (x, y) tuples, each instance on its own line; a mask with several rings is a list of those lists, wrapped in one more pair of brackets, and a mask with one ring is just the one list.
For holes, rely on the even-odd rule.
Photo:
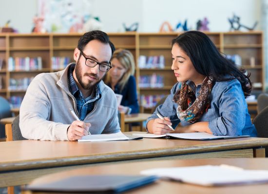
[[(12, 113), (10, 110), (10, 104), (9, 102), (3, 98), (0, 97), (0, 119), (11, 117)], [(0, 138), (5, 136), (4, 133), (5, 126), (3, 124), (0, 124)]]

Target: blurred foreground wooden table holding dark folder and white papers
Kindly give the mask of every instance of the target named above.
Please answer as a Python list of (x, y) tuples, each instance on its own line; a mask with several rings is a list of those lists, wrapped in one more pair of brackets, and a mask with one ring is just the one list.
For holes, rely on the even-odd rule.
[[(140, 171), (149, 168), (182, 167), (195, 165), (229, 164), (244, 169), (268, 170), (268, 159), (198, 159), (198, 160), (164, 160), (151, 162), (131, 162), (113, 165), (102, 165), (79, 168), (71, 171), (59, 172), (34, 180), (36, 183), (49, 182), (77, 175), (139, 175)], [(193, 175), (194, 176), (194, 175)], [(155, 183), (136, 188), (127, 194), (267, 194), (268, 183), (240, 186), (205, 187), (170, 180), (157, 180)], [(26, 192), (30, 194), (30, 192)]]

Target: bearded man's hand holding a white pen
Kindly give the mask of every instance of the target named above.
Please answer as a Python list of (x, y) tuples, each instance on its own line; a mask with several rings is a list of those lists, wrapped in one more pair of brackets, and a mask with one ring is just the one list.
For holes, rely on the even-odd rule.
[(88, 130), (91, 127), (90, 123), (83, 121), (74, 121), (67, 130), (67, 137), (70, 141), (76, 141), (84, 135), (88, 135)]

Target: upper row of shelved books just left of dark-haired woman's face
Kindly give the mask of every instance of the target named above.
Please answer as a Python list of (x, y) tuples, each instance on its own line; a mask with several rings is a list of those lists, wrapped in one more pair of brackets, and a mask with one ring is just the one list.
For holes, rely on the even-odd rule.
[(145, 56), (140, 55), (138, 60), (139, 68), (153, 69), (153, 68), (161, 68), (165, 67), (165, 57), (163, 55), (160, 56)]

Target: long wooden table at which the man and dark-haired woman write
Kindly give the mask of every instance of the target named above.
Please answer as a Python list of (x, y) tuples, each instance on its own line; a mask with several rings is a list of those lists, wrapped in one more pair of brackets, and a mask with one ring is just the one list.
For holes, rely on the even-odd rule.
[[(129, 134), (132, 132), (127, 132)], [(168, 158), (264, 157), (268, 138), (194, 141), (148, 139), (110, 142), (23, 140), (0, 142), (0, 172), (74, 164)], [(259, 148), (259, 149), (255, 149)]]

